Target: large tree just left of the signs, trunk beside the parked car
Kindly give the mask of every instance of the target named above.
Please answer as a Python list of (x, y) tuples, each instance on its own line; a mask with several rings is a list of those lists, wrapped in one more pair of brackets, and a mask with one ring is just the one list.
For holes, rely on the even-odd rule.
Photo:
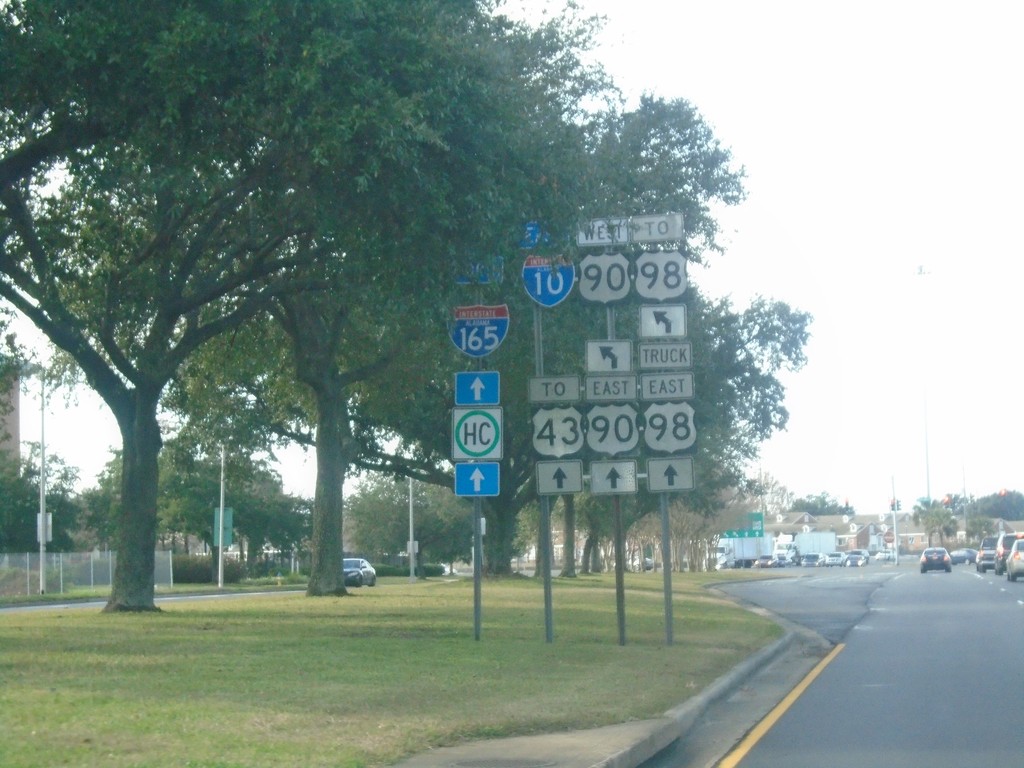
[[(353, 40), (353, 51), (391, 73), (366, 84), (366, 97), (415, 96), (435, 143), (403, 147), (362, 184), (340, 190), (341, 224), (310, 244), (318, 268), (306, 274), (316, 288), (274, 300), (276, 329), (232, 338), (233, 350), (237, 338), (263, 340), (241, 345), (259, 350), (257, 365), (223, 344), (198, 360), (183, 389), (202, 397), (181, 403), (209, 425), (231, 402), (252, 414), (250, 434), (315, 446), (310, 595), (345, 591), (342, 485), (353, 468), (451, 485), (433, 455), (401, 439), (418, 419), (406, 394), (434, 393), (437, 377), (449, 377), (430, 339), (443, 338), (449, 307), (465, 303), (457, 275), (514, 252), (527, 219), (566, 220), (574, 210), (581, 103), (603, 84), (580, 56), (591, 28), (567, 19), (531, 29), (462, 8), (444, 22), (445, 36), (410, 35), (393, 49), (379, 40), (394, 19), (375, 9), (366, 22), (381, 29)], [(286, 356), (292, 372), (281, 376)], [(218, 386), (208, 386), (211, 377)], [(378, 394), (387, 418), (366, 407)]]

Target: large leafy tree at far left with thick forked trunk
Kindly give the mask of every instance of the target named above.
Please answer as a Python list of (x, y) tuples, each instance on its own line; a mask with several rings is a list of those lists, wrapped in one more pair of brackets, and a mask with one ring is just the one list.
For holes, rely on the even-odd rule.
[[(528, 145), (501, 127), (534, 117), (508, 97), (546, 63), (523, 68), (528, 36), (495, 51), (510, 28), (474, 0), (13, 0), (0, 22), (0, 297), (114, 412), (124, 470), (108, 610), (151, 610), (167, 384), (289, 292), (396, 274), (429, 286), (464, 257), (465, 240), (436, 247), (445, 236), (484, 232), (487, 248), (513, 217), (506, 189), (544, 185), (543, 169), (522, 173), (542, 126)], [(429, 258), (412, 237), (395, 247), (429, 222)], [(334, 273), (303, 268), (324, 256)], [(315, 322), (338, 314), (328, 304)], [(323, 341), (330, 354), (336, 340)], [(340, 519), (340, 498), (324, 504)], [(331, 570), (322, 592), (340, 585)]]

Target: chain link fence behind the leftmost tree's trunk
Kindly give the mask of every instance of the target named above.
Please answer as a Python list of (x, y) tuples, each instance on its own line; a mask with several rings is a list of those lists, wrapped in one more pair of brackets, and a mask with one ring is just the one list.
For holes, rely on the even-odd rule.
[[(102, 589), (114, 581), (117, 552), (47, 552), (46, 591), (65, 594), (80, 589)], [(39, 553), (0, 553), (0, 596), (39, 594)], [(170, 552), (157, 552), (153, 567), (158, 587), (174, 586)]]

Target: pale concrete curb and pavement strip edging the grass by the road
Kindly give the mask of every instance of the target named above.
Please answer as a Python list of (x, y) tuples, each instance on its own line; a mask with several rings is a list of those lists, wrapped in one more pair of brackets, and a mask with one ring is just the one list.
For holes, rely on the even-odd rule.
[[(415, 755), (398, 768), (636, 768), (685, 736), (714, 703), (751, 684), (752, 677), (806, 645), (788, 631), (708, 688), (660, 718), (585, 731), (516, 736), (446, 746)], [(813, 664), (809, 664), (808, 671)], [(804, 673), (806, 674), (806, 673)], [(794, 682), (794, 685), (796, 681)], [(782, 694), (784, 695), (784, 693)], [(781, 697), (781, 696), (780, 696)], [(765, 713), (766, 714), (766, 713)], [(759, 716), (763, 717), (763, 715)]]

